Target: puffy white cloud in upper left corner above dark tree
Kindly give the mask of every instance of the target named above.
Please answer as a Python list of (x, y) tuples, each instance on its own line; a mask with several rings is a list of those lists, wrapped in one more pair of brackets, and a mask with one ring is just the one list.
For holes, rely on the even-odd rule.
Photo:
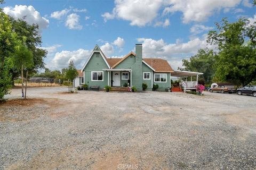
[(42, 17), (40, 13), (31, 5), (15, 5), (15, 7), (7, 6), (4, 7), (4, 13), (12, 16), (14, 19), (22, 19), (24, 16), (26, 16), (25, 21), (27, 21), (29, 24), (38, 24), (40, 32), (42, 32), (42, 30), (47, 28), (49, 25), (49, 20)]

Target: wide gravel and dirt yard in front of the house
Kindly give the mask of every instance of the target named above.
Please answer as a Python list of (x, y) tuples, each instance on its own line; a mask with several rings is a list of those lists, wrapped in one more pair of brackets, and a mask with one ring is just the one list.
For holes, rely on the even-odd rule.
[(0, 169), (255, 169), (256, 98), (13, 89)]

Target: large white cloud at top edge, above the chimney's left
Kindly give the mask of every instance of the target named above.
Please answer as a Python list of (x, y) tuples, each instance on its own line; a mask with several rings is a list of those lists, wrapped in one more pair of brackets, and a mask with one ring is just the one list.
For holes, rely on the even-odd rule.
[(110, 19), (119, 18), (130, 21), (131, 25), (143, 27), (156, 19), (162, 3), (162, 0), (118, 0), (115, 1), (115, 8), (112, 13), (106, 12), (102, 17), (105, 22)]

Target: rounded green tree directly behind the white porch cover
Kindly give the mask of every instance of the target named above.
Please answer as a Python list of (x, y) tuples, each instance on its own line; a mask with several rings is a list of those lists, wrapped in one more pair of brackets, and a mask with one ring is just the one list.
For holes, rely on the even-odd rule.
[(197, 54), (191, 56), (189, 60), (182, 60), (183, 68), (178, 68), (184, 71), (193, 71), (204, 73), (202, 77), (205, 79), (206, 83), (210, 83), (214, 73), (214, 64), (217, 54), (208, 48), (199, 49)]

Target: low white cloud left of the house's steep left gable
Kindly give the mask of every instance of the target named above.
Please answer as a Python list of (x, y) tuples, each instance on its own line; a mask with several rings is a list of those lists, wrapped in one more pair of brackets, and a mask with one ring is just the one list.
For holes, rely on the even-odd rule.
[(47, 64), (51, 67), (58, 69), (67, 68), (70, 60), (72, 60), (77, 69), (81, 69), (91, 52), (85, 49), (78, 49), (75, 51), (63, 50), (60, 53), (56, 53), (51, 63)]

